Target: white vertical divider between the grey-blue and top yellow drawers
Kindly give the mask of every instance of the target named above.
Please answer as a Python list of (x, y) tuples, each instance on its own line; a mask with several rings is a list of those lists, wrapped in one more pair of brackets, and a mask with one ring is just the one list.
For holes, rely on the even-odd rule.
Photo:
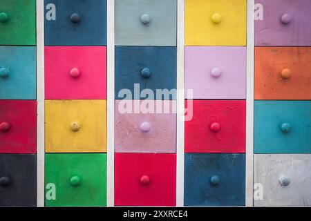
[(176, 206), (184, 206), (185, 125), (180, 111), (185, 110), (185, 0), (177, 6), (177, 141)]

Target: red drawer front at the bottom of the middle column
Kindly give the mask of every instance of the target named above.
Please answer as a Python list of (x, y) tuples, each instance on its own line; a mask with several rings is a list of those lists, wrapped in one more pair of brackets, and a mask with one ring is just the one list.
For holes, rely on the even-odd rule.
[(115, 154), (115, 206), (175, 205), (175, 154)]

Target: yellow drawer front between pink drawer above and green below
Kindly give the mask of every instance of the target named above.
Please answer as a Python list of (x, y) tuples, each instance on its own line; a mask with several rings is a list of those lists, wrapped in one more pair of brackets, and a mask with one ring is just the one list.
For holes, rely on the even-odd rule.
[(46, 152), (106, 152), (106, 100), (46, 100)]

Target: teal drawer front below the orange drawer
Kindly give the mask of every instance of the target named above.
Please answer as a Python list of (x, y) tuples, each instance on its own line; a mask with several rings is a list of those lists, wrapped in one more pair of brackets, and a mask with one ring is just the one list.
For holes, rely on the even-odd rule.
[(255, 101), (255, 153), (311, 153), (311, 101)]

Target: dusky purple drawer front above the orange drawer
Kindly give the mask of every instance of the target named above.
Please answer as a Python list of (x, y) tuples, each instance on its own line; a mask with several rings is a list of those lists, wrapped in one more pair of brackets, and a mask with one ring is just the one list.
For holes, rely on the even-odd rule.
[[(255, 2), (263, 6), (263, 20), (255, 21), (256, 46), (311, 46), (310, 0), (256, 0)], [(255, 13), (259, 12), (258, 7), (261, 6), (255, 7)]]

